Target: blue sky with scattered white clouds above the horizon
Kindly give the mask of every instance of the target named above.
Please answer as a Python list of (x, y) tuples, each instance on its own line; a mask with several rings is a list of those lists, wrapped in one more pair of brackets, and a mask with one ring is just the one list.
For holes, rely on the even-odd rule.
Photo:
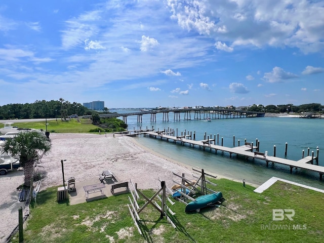
[(2, 1), (0, 105), (323, 102), (324, 1)]

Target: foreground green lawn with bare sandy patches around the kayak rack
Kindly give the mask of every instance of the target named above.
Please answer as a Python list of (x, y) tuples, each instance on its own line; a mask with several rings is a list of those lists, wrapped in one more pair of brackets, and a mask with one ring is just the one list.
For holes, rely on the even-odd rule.
[[(57, 187), (39, 192), (37, 204), (30, 206), (30, 218), (24, 231), (25, 242), (320, 242), (324, 236), (324, 194), (277, 181), (259, 194), (247, 185), (231, 180), (213, 180), (212, 189), (222, 191), (222, 206), (199, 213), (185, 213), (185, 205), (169, 207), (174, 229), (152, 206), (140, 213), (141, 236), (130, 216), (130, 194), (109, 196), (89, 203), (57, 203)], [(154, 194), (152, 190), (143, 191)], [(78, 192), (83, 193), (83, 192)], [(143, 205), (143, 198), (139, 200)], [(272, 221), (272, 209), (295, 210), (294, 221)], [(287, 226), (285, 229), (262, 226)], [(293, 228), (300, 225), (301, 229)], [(304, 226), (305, 225), (305, 226)], [(290, 226), (290, 229), (288, 229)], [(306, 227), (306, 229), (303, 229)], [(12, 242), (18, 242), (18, 235)]]

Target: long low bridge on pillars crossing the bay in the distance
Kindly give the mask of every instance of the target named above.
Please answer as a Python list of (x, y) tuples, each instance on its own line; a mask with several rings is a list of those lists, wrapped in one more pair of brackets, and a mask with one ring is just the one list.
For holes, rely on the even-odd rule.
[[(181, 108), (181, 109), (157, 109), (157, 110), (147, 110), (138, 111), (130, 113), (109, 113), (100, 114), (100, 117), (110, 118), (110, 117), (123, 117), (123, 121), (127, 123), (127, 117), (131, 115), (137, 115), (137, 121), (142, 122), (142, 116), (149, 114), (151, 116), (151, 121), (156, 121), (156, 114), (163, 113), (163, 120), (169, 121), (169, 113), (173, 113), (174, 120), (181, 120), (181, 114), (183, 119), (226, 119), (226, 118), (247, 118), (247, 117), (263, 117), (264, 112), (256, 111), (246, 111), (246, 110), (233, 110), (233, 109), (220, 109), (220, 108)], [(82, 116), (84, 118), (90, 118), (90, 115)]]

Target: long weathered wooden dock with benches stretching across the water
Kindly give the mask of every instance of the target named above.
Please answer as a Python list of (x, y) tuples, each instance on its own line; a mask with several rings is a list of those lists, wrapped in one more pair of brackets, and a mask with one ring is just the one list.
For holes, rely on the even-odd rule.
[[(286, 165), (290, 167), (290, 173), (293, 172), (293, 168), (300, 168), (300, 169), (305, 169), (308, 171), (312, 171), (312, 172), (317, 172), (319, 173), (319, 179), (322, 179), (322, 176), (324, 174), (324, 167), (322, 166), (318, 166), (318, 165), (313, 165), (313, 161), (317, 160), (316, 157), (314, 156), (307, 156), (304, 157), (298, 161), (295, 160), (290, 160), (290, 159), (286, 159), (286, 158), (279, 158), (279, 157), (274, 157), (274, 156), (270, 156), (270, 155), (265, 155), (263, 153), (255, 153), (255, 151), (258, 150), (257, 146), (253, 146), (253, 147), (249, 147), (246, 145), (242, 145), (242, 146), (238, 146), (238, 147), (225, 147), (225, 146), (220, 146), (220, 145), (216, 145), (215, 144), (215, 139), (206, 139), (206, 140), (200, 140), (200, 141), (195, 141), (195, 140), (191, 140), (191, 139), (186, 139), (187, 135), (182, 135), (182, 136), (171, 136), (171, 135), (166, 135), (164, 133), (157, 133), (154, 131), (148, 131), (148, 132), (144, 132), (145, 134), (148, 134), (151, 137), (160, 137), (160, 139), (165, 139), (167, 141), (169, 140), (173, 140), (174, 143), (181, 143), (182, 145), (184, 144), (189, 144), (189, 146), (196, 146), (199, 148), (203, 148), (204, 150), (210, 149), (210, 151), (215, 150), (215, 153), (217, 153), (217, 151), (222, 151), (222, 152), (227, 152), (229, 153), (230, 157), (232, 156), (232, 154), (236, 154), (236, 155), (241, 155), (241, 156), (245, 156), (246, 158), (257, 158), (257, 159), (261, 159), (264, 160), (266, 163), (266, 166), (268, 166), (269, 163), (277, 163), (277, 164), (281, 164), (281, 165)], [(212, 142), (214, 142), (214, 144), (212, 144)], [(317, 160), (318, 161), (318, 160)], [(309, 164), (311, 163), (311, 164)]]

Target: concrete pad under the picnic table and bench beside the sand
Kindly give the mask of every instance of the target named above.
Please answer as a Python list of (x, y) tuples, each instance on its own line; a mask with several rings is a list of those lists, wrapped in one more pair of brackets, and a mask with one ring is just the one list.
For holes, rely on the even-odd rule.
[(69, 192), (69, 202), (70, 205), (75, 205), (75, 204), (82, 204), (82, 203), (87, 203), (89, 201), (101, 199), (101, 198), (107, 198), (108, 196), (112, 196), (111, 194), (111, 185), (118, 183), (112, 179), (107, 179), (103, 181), (103, 184), (105, 187), (103, 188), (103, 193), (104, 195), (101, 194), (101, 192), (95, 192), (89, 194), (89, 198), (86, 198), (86, 192), (84, 190), (84, 186), (89, 186), (93, 184), (98, 184), (100, 183), (99, 177), (98, 179), (93, 179), (93, 180), (87, 180), (87, 181), (75, 181), (75, 188), (76, 191), (70, 191)]

